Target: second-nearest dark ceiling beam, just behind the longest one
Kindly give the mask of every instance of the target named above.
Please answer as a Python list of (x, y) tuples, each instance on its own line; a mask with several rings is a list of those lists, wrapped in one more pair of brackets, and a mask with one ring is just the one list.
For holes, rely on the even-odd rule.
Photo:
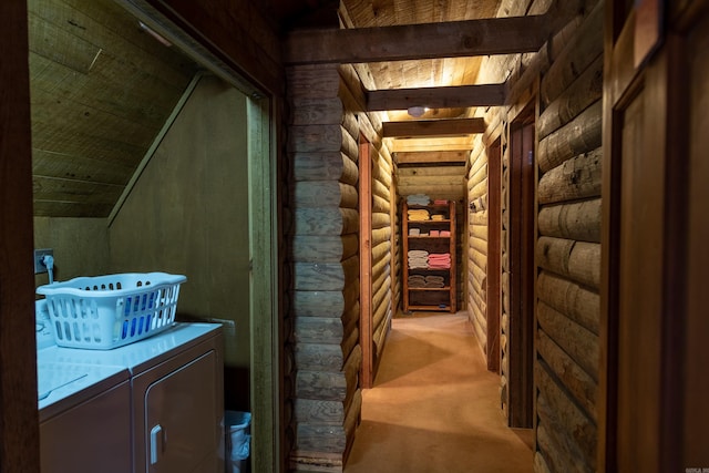
[(504, 105), (507, 85), (482, 84), (446, 88), (393, 89), (367, 92), (367, 111), (428, 109), (466, 109)]

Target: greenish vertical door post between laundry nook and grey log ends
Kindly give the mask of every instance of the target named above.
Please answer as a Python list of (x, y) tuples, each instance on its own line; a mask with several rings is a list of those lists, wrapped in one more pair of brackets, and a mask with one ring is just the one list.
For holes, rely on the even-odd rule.
[[(278, 316), (278, 209), (276, 137), (271, 134), (269, 100), (248, 101), (249, 235), (251, 260), (251, 448), (254, 471), (281, 471), (281, 371)], [(274, 107), (275, 110), (275, 107)]]

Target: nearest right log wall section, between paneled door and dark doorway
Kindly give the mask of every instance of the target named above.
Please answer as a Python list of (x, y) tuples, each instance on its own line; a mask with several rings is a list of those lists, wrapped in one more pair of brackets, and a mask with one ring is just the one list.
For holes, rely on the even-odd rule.
[(542, 73), (536, 122), (535, 466), (551, 471), (596, 471), (603, 2), (586, 7)]

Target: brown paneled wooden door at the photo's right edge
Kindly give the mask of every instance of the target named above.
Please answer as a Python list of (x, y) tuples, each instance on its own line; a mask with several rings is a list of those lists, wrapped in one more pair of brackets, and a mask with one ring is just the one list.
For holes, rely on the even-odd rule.
[[(709, 217), (688, 212), (689, 177), (703, 197), (709, 177), (697, 127), (709, 100), (706, 7), (606, 4), (598, 471), (709, 467), (708, 410), (691, 389), (707, 388), (706, 302), (693, 306), (703, 316), (688, 310), (706, 297), (687, 290), (707, 277), (695, 261), (707, 261)], [(703, 232), (701, 249), (689, 228)]]

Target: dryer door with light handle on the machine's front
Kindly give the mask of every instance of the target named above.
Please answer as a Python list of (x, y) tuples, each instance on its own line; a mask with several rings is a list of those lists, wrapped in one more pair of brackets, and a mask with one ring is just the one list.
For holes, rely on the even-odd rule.
[(206, 352), (145, 391), (146, 471), (194, 473), (214, 464), (220, 439), (215, 423), (217, 356)]

